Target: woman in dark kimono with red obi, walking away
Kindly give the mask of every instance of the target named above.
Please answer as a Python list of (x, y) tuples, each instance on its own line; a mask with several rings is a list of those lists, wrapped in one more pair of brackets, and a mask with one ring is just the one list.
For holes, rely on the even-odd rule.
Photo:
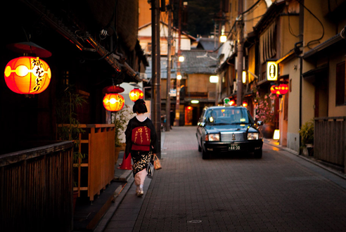
[(156, 131), (153, 122), (151, 122), (145, 112), (146, 102), (139, 99), (134, 103), (134, 112), (137, 114), (127, 124), (125, 131), (126, 136), (126, 149), (125, 158), (131, 153), (134, 165), (132, 165), (132, 172), (134, 173), (134, 183), (136, 184), (137, 196), (143, 195), (143, 184), (146, 179), (146, 168), (148, 162), (151, 160), (151, 153), (156, 153)]

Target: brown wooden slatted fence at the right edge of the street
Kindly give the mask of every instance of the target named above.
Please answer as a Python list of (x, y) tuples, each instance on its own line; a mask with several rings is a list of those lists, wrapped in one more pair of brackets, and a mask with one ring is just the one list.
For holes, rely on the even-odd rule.
[(314, 121), (314, 157), (345, 166), (346, 117), (316, 117)]

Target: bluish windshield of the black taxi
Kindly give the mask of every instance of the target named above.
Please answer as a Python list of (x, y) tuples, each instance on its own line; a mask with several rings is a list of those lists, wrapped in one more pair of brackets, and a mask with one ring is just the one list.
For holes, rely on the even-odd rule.
[(205, 115), (206, 124), (251, 124), (248, 110), (243, 108), (210, 109)]

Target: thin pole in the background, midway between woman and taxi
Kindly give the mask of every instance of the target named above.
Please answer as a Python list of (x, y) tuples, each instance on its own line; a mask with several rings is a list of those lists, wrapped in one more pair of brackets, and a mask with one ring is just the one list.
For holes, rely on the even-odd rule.
[[(179, 0), (179, 13), (178, 13), (178, 58), (181, 55), (181, 10), (183, 8), (183, 0)], [(178, 60), (178, 73), (180, 73), (180, 62)], [(175, 104), (175, 122), (177, 124), (177, 127), (179, 127), (179, 119), (180, 119), (180, 79), (178, 79), (178, 73), (177, 73), (177, 101)]]

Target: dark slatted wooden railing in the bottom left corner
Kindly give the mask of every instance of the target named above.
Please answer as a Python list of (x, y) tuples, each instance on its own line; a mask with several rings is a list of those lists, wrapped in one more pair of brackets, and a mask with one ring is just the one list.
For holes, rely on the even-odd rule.
[(0, 155), (0, 231), (72, 231), (72, 147)]

